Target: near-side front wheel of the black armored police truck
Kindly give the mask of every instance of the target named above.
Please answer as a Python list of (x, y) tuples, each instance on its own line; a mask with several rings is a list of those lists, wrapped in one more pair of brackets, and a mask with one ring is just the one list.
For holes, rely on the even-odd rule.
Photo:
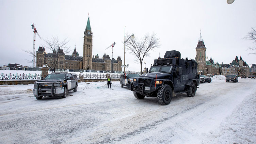
[(170, 85), (164, 84), (157, 92), (157, 99), (160, 105), (168, 105), (173, 97)]

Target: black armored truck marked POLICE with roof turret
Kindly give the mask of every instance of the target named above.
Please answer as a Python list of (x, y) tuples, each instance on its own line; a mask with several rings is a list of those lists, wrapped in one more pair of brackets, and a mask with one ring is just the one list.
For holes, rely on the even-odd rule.
[(168, 105), (177, 93), (195, 96), (199, 85), (197, 63), (193, 59), (181, 59), (180, 52), (166, 51), (164, 58), (154, 60), (149, 73), (133, 78), (131, 91), (137, 99), (157, 97), (158, 103)]

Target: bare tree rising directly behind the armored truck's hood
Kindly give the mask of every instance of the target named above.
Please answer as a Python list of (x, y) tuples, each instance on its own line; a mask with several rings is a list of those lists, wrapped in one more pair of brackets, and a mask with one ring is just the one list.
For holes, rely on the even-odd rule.
[[(126, 35), (127, 37), (130, 37), (130, 35)], [(135, 61), (141, 64), (141, 74), (143, 59), (150, 55), (150, 50), (154, 50), (160, 46), (159, 38), (156, 37), (154, 32), (152, 35), (149, 35), (148, 33), (145, 34), (141, 39), (138, 39), (138, 37), (135, 37), (134, 39), (130, 38), (125, 44), (130, 50), (130, 53), (134, 54)]]

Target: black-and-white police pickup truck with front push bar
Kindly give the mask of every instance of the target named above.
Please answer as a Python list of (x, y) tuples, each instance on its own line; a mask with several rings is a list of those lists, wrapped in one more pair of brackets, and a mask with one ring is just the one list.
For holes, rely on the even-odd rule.
[(77, 92), (77, 75), (70, 73), (48, 74), (43, 80), (34, 83), (33, 94), (36, 99), (43, 96), (61, 96), (65, 98), (71, 90)]

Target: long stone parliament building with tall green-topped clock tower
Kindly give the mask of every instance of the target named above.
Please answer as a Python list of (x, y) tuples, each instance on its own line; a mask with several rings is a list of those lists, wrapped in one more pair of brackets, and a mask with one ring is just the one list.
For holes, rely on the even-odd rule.
[[(117, 57), (115, 60), (110, 59), (109, 55), (106, 53), (102, 58), (99, 58), (98, 54), (95, 57), (92, 55), (93, 51), (93, 33), (90, 25), (90, 18), (88, 17), (86, 29), (84, 31), (83, 37), (83, 57), (79, 56), (79, 53), (76, 51), (76, 46), (72, 55), (65, 55), (62, 49), (58, 49), (52, 53), (44, 54), (45, 48), (40, 47), (36, 51), (36, 67), (42, 67), (44, 65), (44, 60), (46, 61), (48, 66), (53, 65), (54, 61), (57, 61), (57, 55), (59, 55), (59, 59), (57, 61), (56, 69), (64, 70), (111, 70), (111, 63), (113, 63), (113, 71), (122, 71), (121, 65), (122, 60), (121, 57)], [(45, 59), (46, 56), (46, 59)]]

